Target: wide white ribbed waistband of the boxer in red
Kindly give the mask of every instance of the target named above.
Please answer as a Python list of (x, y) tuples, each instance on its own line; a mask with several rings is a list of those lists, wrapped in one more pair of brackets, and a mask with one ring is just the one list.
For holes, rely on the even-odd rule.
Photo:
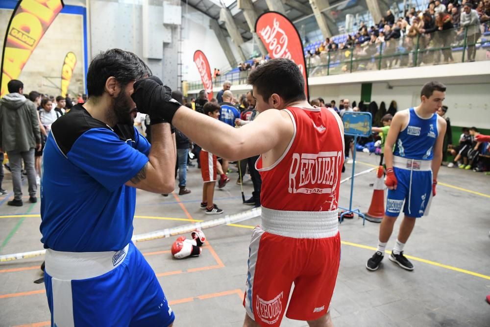
[(262, 229), (294, 238), (327, 238), (339, 232), (334, 211), (283, 211), (262, 207)]

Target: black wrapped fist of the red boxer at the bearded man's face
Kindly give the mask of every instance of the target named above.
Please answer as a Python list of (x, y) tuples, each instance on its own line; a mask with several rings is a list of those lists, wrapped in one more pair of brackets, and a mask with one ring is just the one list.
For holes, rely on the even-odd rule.
[[(155, 123), (164, 119), (172, 122), (173, 115), (181, 104), (172, 99), (172, 90), (156, 76), (140, 79), (134, 83), (131, 98), (139, 112), (148, 114)], [(160, 121), (160, 123), (162, 123)]]

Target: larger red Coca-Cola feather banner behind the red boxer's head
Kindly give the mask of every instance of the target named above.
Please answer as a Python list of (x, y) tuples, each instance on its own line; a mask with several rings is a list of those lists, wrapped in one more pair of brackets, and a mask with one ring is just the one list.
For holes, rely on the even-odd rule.
[(305, 94), (308, 99), (308, 73), (306, 71), (303, 44), (293, 23), (282, 14), (269, 11), (255, 22), (259, 34), (271, 58), (288, 58), (298, 65), (305, 79)]

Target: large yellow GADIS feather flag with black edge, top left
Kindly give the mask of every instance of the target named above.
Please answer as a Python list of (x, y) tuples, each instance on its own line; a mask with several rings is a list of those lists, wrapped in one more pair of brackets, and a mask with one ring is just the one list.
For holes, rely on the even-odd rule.
[(7, 26), (1, 59), (0, 97), (7, 83), (19, 77), (49, 25), (64, 7), (63, 0), (20, 0)]

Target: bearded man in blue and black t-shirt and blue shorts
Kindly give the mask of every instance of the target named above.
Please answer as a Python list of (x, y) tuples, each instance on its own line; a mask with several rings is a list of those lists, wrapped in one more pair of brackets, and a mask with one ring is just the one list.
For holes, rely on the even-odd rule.
[(131, 242), (136, 188), (174, 188), (170, 124), (150, 113), (151, 146), (133, 126), (133, 84), (148, 75), (131, 52), (98, 54), (87, 73), (88, 101), (51, 126), (40, 227), (51, 326), (171, 326), (175, 318)]

